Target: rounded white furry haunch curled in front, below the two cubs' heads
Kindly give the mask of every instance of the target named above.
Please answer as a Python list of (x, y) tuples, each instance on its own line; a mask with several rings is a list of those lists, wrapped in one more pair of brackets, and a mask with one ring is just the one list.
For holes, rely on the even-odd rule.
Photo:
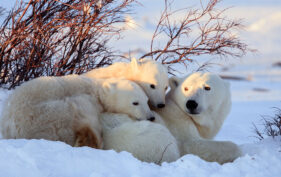
[(155, 121), (136, 121), (126, 114), (103, 113), (104, 149), (127, 151), (141, 161), (161, 164), (180, 157), (177, 141), (155, 115)]

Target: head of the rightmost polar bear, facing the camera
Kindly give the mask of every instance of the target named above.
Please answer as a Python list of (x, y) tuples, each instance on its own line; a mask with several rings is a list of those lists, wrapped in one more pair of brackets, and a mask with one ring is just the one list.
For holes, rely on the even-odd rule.
[(202, 115), (224, 119), (230, 111), (229, 83), (216, 74), (197, 72), (182, 79), (172, 77), (169, 83), (169, 98), (195, 119)]

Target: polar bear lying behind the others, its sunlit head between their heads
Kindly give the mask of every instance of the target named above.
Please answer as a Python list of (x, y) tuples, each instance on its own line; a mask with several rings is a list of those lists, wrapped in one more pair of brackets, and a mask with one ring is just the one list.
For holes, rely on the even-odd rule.
[(155, 108), (165, 107), (168, 88), (167, 68), (154, 60), (132, 59), (131, 63), (119, 62), (105, 68), (93, 69), (84, 74), (90, 78), (124, 78), (139, 84)]

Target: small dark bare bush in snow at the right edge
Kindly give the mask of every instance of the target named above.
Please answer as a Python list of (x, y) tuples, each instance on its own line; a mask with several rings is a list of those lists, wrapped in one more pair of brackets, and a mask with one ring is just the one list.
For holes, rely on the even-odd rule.
[(259, 140), (281, 136), (281, 109), (276, 108), (274, 116), (263, 116), (262, 125), (263, 129), (259, 130), (254, 124), (255, 137)]

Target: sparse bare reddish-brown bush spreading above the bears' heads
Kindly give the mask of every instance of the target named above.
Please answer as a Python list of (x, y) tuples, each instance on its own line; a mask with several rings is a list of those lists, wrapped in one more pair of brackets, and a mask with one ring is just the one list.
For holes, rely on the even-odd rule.
[(172, 66), (187, 65), (197, 56), (241, 57), (250, 50), (235, 35), (243, 27), (241, 21), (228, 19), (227, 9), (216, 9), (219, 0), (201, 1), (199, 8), (172, 10), (174, 3), (176, 1), (165, 0), (150, 52), (140, 58), (159, 60), (173, 73)]

